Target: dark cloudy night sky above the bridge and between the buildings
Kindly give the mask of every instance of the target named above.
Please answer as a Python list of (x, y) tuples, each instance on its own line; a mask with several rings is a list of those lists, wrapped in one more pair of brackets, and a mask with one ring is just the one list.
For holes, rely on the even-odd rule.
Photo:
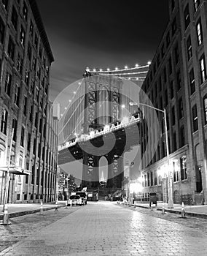
[(55, 57), (51, 100), (86, 66), (147, 64), (168, 22), (168, 0), (36, 1)]

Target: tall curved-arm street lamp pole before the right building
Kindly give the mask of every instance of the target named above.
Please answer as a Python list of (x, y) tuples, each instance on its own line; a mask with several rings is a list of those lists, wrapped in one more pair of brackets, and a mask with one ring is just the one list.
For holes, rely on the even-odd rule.
[(166, 157), (167, 157), (167, 163), (168, 163), (168, 208), (173, 208), (173, 188), (171, 184), (171, 171), (170, 171), (170, 156), (169, 156), (169, 146), (168, 146), (168, 129), (167, 129), (167, 116), (166, 116), (166, 110), (161, 110), (160, 108), (152, 107), (151, 105), (147, 105), (144, 103), (136, 103), (136, 102), (129, 102), (130, 106), (136, 105), (136, 106), (145, 106), (148, 108), (152, 108), (154, 110), (160, 111), (164, 114), (164, 121), (165, 121), (165, 143), (166, 143)]

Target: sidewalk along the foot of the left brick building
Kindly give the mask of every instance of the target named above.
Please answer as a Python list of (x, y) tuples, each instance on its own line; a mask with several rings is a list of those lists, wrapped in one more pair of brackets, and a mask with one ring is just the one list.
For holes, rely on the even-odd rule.
[[(26, 214), (34, 214), (40, 211), (40, 203), (8, 203), (9, 218)], [(65, 206), (65, 201), (58, 201), (58, 208)], [(54, 203), (43, 203), (43, 211), (55, 209)], [(0, 220), (3, 219), (3, 205), (0, 205)]]

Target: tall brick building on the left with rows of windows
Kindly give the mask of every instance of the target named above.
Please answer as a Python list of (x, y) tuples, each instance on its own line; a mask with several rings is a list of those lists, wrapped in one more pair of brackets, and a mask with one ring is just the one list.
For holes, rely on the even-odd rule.
[[(54, 61), (35, 0), (0, 1), (0, 203), (55, 200), (58, 121), (49, 101)], [(30, 173), (30, 175), (24, 175)]]

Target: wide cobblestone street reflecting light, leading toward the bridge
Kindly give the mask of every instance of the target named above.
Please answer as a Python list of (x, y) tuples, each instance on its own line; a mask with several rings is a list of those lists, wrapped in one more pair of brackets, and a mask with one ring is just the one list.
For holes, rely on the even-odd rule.
[(206, 219), (116, 203), (88, 203), (11, 222), (1, 226), (1, 250), (8, 248), (0, 255), (207, 255)]

